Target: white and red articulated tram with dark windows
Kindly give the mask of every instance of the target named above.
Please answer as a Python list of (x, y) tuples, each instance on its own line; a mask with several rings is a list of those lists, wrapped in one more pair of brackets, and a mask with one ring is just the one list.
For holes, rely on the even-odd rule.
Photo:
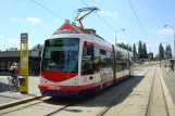
[(76, 98), (134, 75), (133, 53), (90, 34), (52, 35), (41, 54), (41, 94)]

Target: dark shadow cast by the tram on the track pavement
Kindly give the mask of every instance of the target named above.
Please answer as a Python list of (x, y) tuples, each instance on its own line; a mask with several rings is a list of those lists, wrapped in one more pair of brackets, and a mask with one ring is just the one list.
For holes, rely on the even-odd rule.
[[(128, 89), (128, 87), (132, 86), (132, 83), (134, 83), (134, 86), (132, 86), (129, 91), (123, 98), (121, 98), (118, 100), (118, 102), (116, 103), (116, 104), (120, 104), (134, 91), (134, 88), (142, 79), (143, 79), (143, 76), (134, 76), (132, 78), (125, 79), (125, 80), (116, 83), (115, 86), (113, 86), (113, 87), (111, 87), (111, 88), (109, 88), (109, 89), (107, 89), (107, 90), (104, 90), (104, 91), (102, 91), (100, 93), (97, 93), (97, 94), (95, 94), (92, 96), (84, 98), (84, 100), (80, 103), (75, 104), (74, 106), (82, 106), (82, 107), (108, 107), (108, 105), (111, 103), (112, 95), (115, 94), (116, 95), (115, 99), (117, 99), (124, 91), (126, 91)], [(52, 104), (52, 105), (63, 105), (63, 106), (66, 106), (67, 104), (73, 103), (74, 101), (75, 101), (75, 99), (74, 100), (49, 99), (49, 100), (46, 100), (43, 102), (48, 103), (48, 104)], [(74, 112), (74, 113), (83, 112), (80, 109), (71, 108), (71, 107), (68, 109), (64, 109), (64, 111), (66, 111), (66, 112)]]

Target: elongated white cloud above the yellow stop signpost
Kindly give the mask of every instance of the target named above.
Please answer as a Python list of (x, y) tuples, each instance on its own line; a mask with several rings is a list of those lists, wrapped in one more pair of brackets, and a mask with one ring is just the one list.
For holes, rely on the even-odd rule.
[(25, 18), (23, 18), (23, 17), (10, 17), (10, 20), (13, 21), (13, 22), (27, 21), (27, 22), (30, 22), (34, 25), (41, 22), (41, 20), (38, 18), (38, 17), (25, 17)]

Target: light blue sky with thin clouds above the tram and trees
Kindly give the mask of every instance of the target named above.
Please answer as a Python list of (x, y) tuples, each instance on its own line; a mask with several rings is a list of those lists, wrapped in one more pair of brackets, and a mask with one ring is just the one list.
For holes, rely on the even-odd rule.
[[(68, 18), (74, 22), (76, 10), (86, 8), (82, 0), (0, 0), (0, 50), (20, 48), (20, 35), (28, 33), (29, 49), (50, 37)], [(133, 46), (138, 41), (146, 42), (147, 51), (158, 54), (160, 42), (173, 47), (173, 30), (164, 25), (175, 27), (175, 0), (129, 0), (143, 27), (140, 27), (128, 0), (84, 0), (89, 7), (97, 7), (96, 13), (83, 20), (85, 28), (93, 28), (107, 41), (114, 43), (115, 30), (117, 42)], [(77, 22), (75, 22), (78, 25)]]

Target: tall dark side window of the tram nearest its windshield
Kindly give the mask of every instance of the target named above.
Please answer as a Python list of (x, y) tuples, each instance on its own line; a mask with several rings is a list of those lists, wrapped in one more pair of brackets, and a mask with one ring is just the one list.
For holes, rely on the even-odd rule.
[(85, 44), (83, 49), (83, 59), (82, 59), (82, 75), (93, 73), (92, 54), (93, 54), (92, 46)]

